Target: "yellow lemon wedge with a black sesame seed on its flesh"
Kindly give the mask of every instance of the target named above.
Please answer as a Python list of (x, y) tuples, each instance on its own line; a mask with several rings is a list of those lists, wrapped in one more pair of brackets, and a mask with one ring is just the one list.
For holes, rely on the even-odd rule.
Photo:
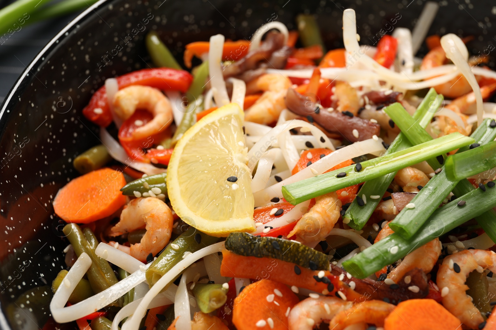
[(206, 115), (178, 141), (167, 167), (172, 207), (211, 236), (255, 231), (243, 119), (235, 103)]

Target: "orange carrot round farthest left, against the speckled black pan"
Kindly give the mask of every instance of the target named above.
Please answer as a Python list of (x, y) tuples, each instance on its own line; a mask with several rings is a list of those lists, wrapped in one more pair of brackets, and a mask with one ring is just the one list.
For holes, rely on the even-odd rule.
[(89, 223), (116, 212), (126, 202), (121, 171), (103, 168), (71, 180), (54, 200), (55, 213), (67, 222)]

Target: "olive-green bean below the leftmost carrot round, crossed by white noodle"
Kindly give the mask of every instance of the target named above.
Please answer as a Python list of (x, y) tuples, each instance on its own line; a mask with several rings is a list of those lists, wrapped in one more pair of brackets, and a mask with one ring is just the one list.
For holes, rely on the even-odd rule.
[(83, 252), (90, 256), (92, 263), (86, 275), (93, 292), (101, 292), (118, 282), (116, 274), (107, 260), (95, 254), (93, 247), (95, 246), (96, 237), (89, 228), (85, 228), (83, 233), (78, 225), (67, 224), (62, 231), (72, 244), (72, 248), (78, 257)]

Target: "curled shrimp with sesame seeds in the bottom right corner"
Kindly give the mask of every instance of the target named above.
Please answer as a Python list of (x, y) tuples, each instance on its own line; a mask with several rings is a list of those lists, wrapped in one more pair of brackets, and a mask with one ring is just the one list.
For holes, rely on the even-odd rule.
[(437, 286), (441, 289), (443, 306), (471, 329), (480, 329), (484, 321), (465, 291), (467, 276), (473, 270), (482, 273), (489, 268), (496, 272), (496, 253), (486, 250), (463, 250), (444, 258), (437, 271)]

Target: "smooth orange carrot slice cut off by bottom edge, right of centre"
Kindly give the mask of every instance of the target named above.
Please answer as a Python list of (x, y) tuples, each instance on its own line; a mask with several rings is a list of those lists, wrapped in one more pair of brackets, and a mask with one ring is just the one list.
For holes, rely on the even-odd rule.
[(458, 330), (461, 322), (433, 299), (410, 299), (400, 302), (384, 320), (384, 330), (404, 329)]

